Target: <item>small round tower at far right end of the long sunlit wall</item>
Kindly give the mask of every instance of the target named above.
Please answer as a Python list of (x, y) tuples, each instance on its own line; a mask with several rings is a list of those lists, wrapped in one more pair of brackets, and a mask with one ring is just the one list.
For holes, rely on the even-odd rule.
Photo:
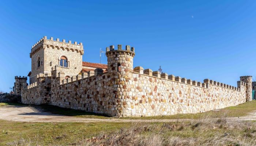
[(252, 76), (241, 76), (240, 81), (246, 83), (246, 102), (252, 101)]

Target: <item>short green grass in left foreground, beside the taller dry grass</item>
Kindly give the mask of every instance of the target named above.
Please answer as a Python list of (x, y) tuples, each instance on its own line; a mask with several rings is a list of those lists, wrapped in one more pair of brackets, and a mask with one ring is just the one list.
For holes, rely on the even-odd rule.
[[(0, 120), (0, 145), (76, 145), (99, 134), (109, 134), (129, 123), (27, 123)], [(19, 144), (20, 143), (20, 144)]]

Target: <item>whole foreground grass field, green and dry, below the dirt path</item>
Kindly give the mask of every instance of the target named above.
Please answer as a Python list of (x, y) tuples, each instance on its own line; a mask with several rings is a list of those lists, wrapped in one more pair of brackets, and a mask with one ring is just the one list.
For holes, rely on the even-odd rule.
[(256, 122), (25, 123), (0, 121), (0, 145), (251, 146)]

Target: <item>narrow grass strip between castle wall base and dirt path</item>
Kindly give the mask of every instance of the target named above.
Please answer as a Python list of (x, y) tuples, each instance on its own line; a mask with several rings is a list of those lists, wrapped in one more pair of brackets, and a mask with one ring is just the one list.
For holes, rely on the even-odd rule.
[[(19, 106), (27, 106), (25, 104), (17, 104), (17, 103), (0, 103), (0, 106), (3, 105), (19, 105)], [(37, 105), (33, 105), (37, 106)], [(45, 111), (52, 112), (53, 114), (60, 114), (66, 116), (75, 116), (80, 118), (98, 118), (98, 119), (109, 119), (113, 117), (109, 117), (106, 115), (95, 114), (91, 112), (85, 112), (80, 110), (72, 110), (67, 108), (60, 108), (53, 105), (38, 105), (37, 107), (43, 108)], [(177, 114), (170, 116), (150, 116), (150, 117), (124, 117), (120, 119), (200, 119), (200, 118), (221, 118), (223, 115), (227, 117), (241, 117), (246, 116), (248, 113), (256, 110), (256, 100), (246, 102), (234, 107), (227, 107), (220, 110), (208, 111), (204, 113), (197, 114)]]

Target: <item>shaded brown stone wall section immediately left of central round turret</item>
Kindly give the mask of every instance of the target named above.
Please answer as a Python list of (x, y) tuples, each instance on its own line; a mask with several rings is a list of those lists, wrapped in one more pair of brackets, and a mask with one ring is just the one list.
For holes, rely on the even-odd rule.
[[(64, 74), (57, 67), (52, 73), (52, 105), (117, 116), (115, 80), (111, 73), (85, 77), (63, 84)], [(81, 78), (81, 79), (80, 79)]]

